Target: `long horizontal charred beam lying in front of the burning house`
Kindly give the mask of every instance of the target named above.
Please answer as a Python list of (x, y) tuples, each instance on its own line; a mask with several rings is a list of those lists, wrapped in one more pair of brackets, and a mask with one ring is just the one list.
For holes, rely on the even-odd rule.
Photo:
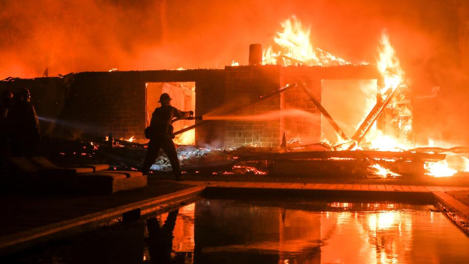
[(390, 151), (310, 151), (287, 153), (256, 153), (239, 157), (239, 160), (285, 160), (285, 159), (334, 159), (334, 158), (386, 158), (402, 160), (420, 160), (437, 162), (444, 160), (446, 154), (430, 154), (415, 152), (390, 152)]

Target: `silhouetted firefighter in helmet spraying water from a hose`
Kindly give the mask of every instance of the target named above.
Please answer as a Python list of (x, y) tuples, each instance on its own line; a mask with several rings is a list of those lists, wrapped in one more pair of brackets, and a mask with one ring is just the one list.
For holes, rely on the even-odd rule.
[(145, 130), (145, 136), (150, 140), (148, 144), (147, 155), (142, 166), (142, 173), (147, 175), (149, 169), (155, 159), (158, 157), (158, 152), (163, 149), (168, 155), (171, 162), (172, 171), (175, 180), (182, 180), (181, 170), (179, 168), (179, 160), (177, 158), (176, 148), (172, 139), (174, 138), (174, 128), (171, 124), (173, 118), (188, 118), (191, 117), (193, 111), (180, 111), (171, 106), (171, 97), (168, 93), (163, 93), (160, 96), (161, 107), (154, 110), (151, 115), (150, 126)]

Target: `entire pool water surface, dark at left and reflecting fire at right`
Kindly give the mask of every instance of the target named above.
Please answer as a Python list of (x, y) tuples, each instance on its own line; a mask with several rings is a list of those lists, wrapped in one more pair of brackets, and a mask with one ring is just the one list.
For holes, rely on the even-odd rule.
[(8, 261), (469, 263), (469, 237), (432, 205), (201, 199), (139, 222), (49, 243)]

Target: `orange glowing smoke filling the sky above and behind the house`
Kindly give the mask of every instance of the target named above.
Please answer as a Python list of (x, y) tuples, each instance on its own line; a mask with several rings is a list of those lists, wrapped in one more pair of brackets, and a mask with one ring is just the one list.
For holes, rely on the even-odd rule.
[[(248, 63), (295, 14), (313, 46), (376, 62), (382, 30), (416, 99), (416, 139), (469, 143), (469, 3), (463, 0), (4, 0), (0, 79), (80, 71), (219, 68)], [(425, 137), (425, 138), (424, 138)]]

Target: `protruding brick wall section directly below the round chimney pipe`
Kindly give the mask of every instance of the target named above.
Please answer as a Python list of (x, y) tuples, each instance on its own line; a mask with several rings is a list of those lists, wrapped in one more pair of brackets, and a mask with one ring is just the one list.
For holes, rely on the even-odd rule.
[[(280, 88), (280, 66), (227, 66), (225, 71), (225, 114), (250, 117), (245, 120), (225, 121), (224, 145), (279, 146), (280, 94), (255, 104), (253, 102), (260, 96)], [(277, 117), (253, 120), (256, 116), (275, 112)]]

